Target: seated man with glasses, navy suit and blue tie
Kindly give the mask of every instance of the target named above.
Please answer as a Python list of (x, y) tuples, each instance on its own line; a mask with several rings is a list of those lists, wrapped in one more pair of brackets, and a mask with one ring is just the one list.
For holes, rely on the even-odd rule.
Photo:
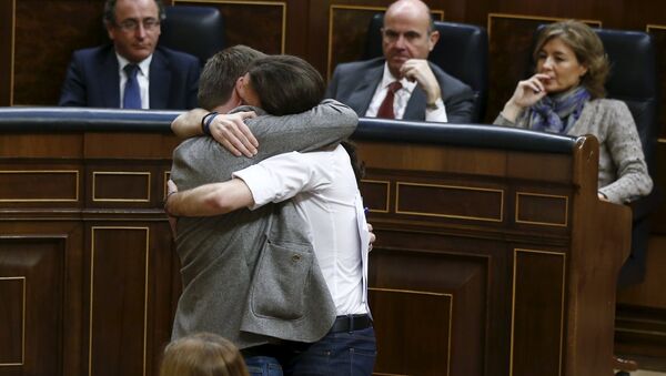
[(162, 19), (161, 0), (107, 0), (104, 26), (113, 43), (73, 53), (59, 105), (195, 108), (199, 59), (155, 49)]

